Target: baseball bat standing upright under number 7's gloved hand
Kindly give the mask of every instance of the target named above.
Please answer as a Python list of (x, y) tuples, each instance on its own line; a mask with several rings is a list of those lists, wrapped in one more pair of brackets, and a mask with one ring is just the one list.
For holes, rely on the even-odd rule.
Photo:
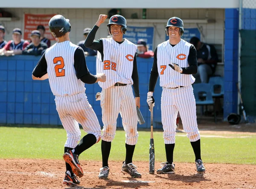
[(154, 138), (153, 138), (153, 105), (150, 106), (150, 144), (149, 144), (149, 173), (154, 174)]

